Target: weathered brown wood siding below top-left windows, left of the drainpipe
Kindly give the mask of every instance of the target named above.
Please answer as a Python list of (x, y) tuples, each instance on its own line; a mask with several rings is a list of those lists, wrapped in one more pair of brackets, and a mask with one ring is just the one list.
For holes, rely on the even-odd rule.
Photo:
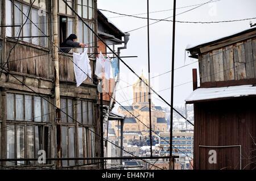
[[(14, 42), (7, 41), (6, 57), (9, 56), (10, 49), (14, 45)], [(10, 71), (48, 78), (50, 56), (48, 53), (46, 50), (18, 43), (10, 54), (7, 67)]]

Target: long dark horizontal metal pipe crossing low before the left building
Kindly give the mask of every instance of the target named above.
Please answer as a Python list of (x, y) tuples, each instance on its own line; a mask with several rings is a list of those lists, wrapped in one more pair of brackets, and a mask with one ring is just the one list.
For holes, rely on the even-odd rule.
[[(179, 156), (164, 156), (164, 157), (93, 157), (93, 158), (46, 158), (46, 161), (71, 161), (71, 160), (104, 160), (104, 159), (170, 159), (179, 158)], [(3, 158), (0, 162), (11, 162), (11, 161), (38, 161), (38, 158)]]

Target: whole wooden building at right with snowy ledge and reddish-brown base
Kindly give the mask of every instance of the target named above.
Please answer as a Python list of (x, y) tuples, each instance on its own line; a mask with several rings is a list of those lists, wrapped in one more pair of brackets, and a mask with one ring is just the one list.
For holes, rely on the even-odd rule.
[(194, 169), (256, 169), (256, 28), (187, 49), (193, 70)]

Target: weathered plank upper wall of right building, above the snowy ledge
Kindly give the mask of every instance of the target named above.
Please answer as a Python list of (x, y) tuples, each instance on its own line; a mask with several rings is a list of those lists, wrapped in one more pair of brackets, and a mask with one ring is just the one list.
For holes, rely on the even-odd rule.
[(247, 39), (199, 56), (201, 83), (256, 78), (256, 39)]

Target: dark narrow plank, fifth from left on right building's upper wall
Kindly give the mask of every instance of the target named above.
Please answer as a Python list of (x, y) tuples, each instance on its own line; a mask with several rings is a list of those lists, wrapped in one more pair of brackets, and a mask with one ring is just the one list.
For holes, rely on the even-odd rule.
[(247, 40), (245, 45), (245, 68), (246, 68), (246, 78), (254, 78), (254, 65), (253, 65), (253, 46), (251, 45), (251, 40)]

